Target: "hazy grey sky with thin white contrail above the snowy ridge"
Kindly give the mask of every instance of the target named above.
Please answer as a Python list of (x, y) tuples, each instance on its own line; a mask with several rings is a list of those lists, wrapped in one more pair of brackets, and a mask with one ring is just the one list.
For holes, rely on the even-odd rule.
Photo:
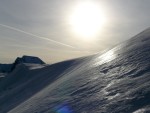
[[(75, 10), (84, 15), (79, 12), (85, 8), (77, 6), (86, 2), (98, 6), (94, 18), (105, 19), (90, 38), (74, 29), (78, 25), (82, 34), (93, 30), (87, 29), (90, 23), (80, 25), (93, 16), (92, 8), (82, 21), (70, 22)], [(0, 62), (31, 55), (55, 63), (101, 53), (150, 27), (149, 11), (150, 0), (0, 0)]]

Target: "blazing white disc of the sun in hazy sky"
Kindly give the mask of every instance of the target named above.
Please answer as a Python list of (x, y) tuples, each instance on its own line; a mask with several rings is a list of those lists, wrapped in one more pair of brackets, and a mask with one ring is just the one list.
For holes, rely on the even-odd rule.
[(102, 10), (96, 3), (92, 2), (77, 5), (70, 18), (73, 31), (86, 39), (95, 36), (104, 22), (105, 18)]

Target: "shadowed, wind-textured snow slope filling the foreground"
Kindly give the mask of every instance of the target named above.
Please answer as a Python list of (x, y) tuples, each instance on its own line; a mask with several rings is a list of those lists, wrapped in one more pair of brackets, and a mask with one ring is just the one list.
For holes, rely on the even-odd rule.
[(0, 113), (150, 113), (149, 51), (147, 29), (103, 55), (20, 64), (0, 81)]

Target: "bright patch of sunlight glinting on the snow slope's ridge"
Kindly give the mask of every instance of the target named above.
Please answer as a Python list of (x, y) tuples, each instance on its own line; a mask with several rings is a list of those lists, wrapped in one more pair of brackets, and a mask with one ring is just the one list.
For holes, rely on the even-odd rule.
[(101, 55), (100, 57), (98, 57), (98, 59), (96, 59), (96, 63), (94, 64), (94, 66), (98, 66), (98, 65), (107, 63), (115, 58), (116, 58), (116, 55), (115, 55), (114, 51), (110, 50), (110, 51), (106, 52), (105, 54)]

